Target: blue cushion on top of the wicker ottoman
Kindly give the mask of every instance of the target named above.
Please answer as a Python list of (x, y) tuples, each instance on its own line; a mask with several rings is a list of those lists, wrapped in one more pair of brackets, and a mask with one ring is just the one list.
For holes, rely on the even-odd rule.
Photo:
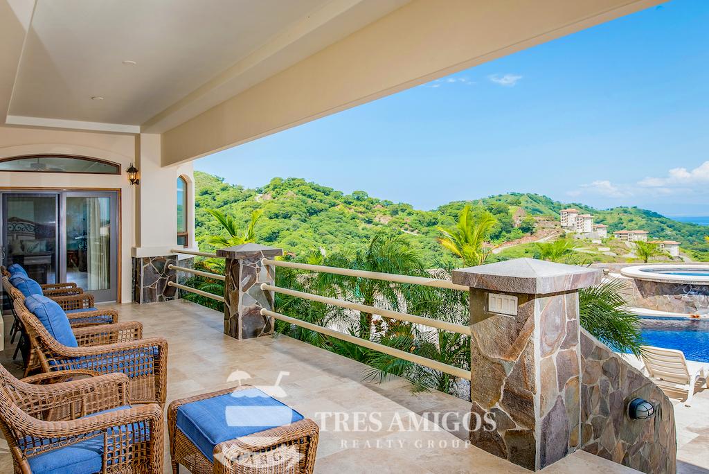
[(177, 427), (212, 462), (214, 447), (219, 443), (301, 419), (303, 415), (257, 388), (199, 400), (177, 409)]

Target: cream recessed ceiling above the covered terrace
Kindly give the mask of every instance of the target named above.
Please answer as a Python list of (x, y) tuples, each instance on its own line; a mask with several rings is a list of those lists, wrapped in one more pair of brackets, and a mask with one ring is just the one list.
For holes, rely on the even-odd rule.
[(6, 122), (161, 133), (408, 0), (30, 1)]

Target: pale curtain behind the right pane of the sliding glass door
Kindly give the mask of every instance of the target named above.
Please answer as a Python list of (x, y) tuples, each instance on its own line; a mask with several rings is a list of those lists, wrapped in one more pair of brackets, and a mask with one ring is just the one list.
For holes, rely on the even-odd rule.
[[(87, 290), (105, 290), (110, 287), (111, 226), (109, 219), (101, 222), (108, 213), (107, 197), (86, 198), (86, 260), (89, 270)], [(103, 211), (103, 212), (101, 212)]]

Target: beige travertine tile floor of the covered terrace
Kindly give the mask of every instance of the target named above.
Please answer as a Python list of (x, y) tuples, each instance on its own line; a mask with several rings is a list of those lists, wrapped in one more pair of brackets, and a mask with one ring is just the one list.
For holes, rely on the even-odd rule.
[[(239, 382), (272, 387), (280, 377), (277, 388), (270, 389), (277, 392), (274, 395), (320, 424), (318, 473), (528, 472), (478, 448), (466, 446), (456, 434), (422, 417), (432, 419), (436, 413), (451, 412), (449, 419), (454, 420), (456, 415), (467, 413), (469, 403), (464, 400), (441, 392), (412, 395), (407, 382), (400, 379), (383, 384), (363, 382), (366, 366), (285, 336), (236, 341), (222, 334), (222, 314), (183, 300), (122, 304), (116, 308), (122, 321), (141, 321), (145, 337), (160, 335), (169, 341), (168, 402)], [(8, 323), (6, 319), (6, 328), (9, 328)], [(7, 348), (2, 363), (13, 368), (11, 355), (11, 348)], [(702, 398), (703, 403), (709, 402), (705, 394), (698, 398)], [(701, 406), (699, 400), (696, 406)], [(367, 421), (371, 414), (379, 417), (381, 429), (377, 429), (376, 421)], [(339, 431), (335, 417), (342, 420)], [(346, 422), (344, 417), (347, 417)], [(354, 419), (359, 419), (359, 424), (356, 425)], [(412, 431), (415, 425), (418, 429)], [(345, 427), (347, 429), (343, 430)], [(688, 429), (696, 429), (696, 425)], [(696, 434), (687, 446), (701, 436), (709, 437), (706, 433)], [(706, 449), (708, 444), (703, 446)], [(165, 473), (169, 473), (167, 445), (165, 448)], [(695, 457), (702, 456), (699, 451), (698, 448)], [(693, 462), (698, 464), (696, 460)], [(10, 472), (7, 447), (0, 446), (0, 473)], [(579, 452), (542, 472), (635, 471)]]

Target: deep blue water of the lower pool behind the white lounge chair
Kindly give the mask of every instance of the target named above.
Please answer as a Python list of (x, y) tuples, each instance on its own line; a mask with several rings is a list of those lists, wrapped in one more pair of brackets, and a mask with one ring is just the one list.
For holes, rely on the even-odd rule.
[(687, 360), (709, 362), (709, 319), (642, 316), (640, 331), (646, 346), (679, 349)]

